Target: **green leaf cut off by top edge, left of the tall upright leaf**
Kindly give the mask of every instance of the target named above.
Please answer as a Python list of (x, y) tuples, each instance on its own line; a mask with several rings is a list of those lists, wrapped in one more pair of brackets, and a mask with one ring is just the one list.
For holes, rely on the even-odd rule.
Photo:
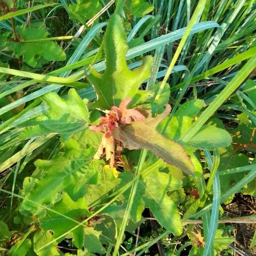
[(70, 19), (76, 19), (81, 23), (92, 18), (102, 9), (99, 0), (78, 0), (67, 7)]

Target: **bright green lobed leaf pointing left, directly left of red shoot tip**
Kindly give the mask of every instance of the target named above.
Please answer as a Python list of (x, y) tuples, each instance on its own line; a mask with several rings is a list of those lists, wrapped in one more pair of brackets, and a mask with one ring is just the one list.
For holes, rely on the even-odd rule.
[(88, 100), (82, 100), (75, 89), (69, 90), (67, 99), (61, 99), (54, 92), (45, 94), (41, 99), (47, 104), (48, 111), (22, 124), (29, 128), (20, 134), (21, 139), (56, 133), (63, 141), (67, 141), (72, 134), (88, 127)]

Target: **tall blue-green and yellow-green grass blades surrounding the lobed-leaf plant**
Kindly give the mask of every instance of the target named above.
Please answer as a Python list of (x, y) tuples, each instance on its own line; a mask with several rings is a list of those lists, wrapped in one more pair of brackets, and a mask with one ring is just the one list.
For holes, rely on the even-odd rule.
[[(16, 25), (21, 25), (29, 18), (31, 22), (44, 20), (52, 37), (60, 36), (57, 33), (60, 27), (61, 36), (75, 36), (82, 25), (75, 20), (69, 20), (64, 9), (73, 1), (61, 0), (43, 5), (44, 2), (37, 1), (36, 6), (29, 7), (27, 1), (17, 1), (18, 12), (11, 12), (0, 17), (0, 33), (12, 31), (10, 18), (14, 18)], [(105, 1), (105, 3), (107, 2)], [(140, 20), (135, 18), (132, 20), (127, 40), (130, 45), (127, 59), (130, 67), (135, 68), (141, 63), (140, 55), (148, 53), (154, 55), (154, 68), (147, 89), (152, 87), (156, 79), (163, 81), (163, 85), (166, 81), (169, 82), (170, 101), (174, 103), (172, 114), (181, 103), (189, 99), (205, 100), (208, 107), (189, 131), (180, 138), (180, 142), (185, 143), (218, 110), (226, 110), (222, 120), (229, 122), (233, 118), (237, 106), (230, 104), (227, 100), (234, 95), (236, 90), (243, 91), (244, 81), (248, 77), (255, 79), (253, 76), (253, 70), (256, 67), (255, 1), (148, 0), (148, 2), (154, 4), (154, 12)], [(38, 69), (32, 69), (25, 65), (23, 70), (17, 70), (15, 64), (12, 68), (0, 67), (0, 73), (4, 74), (4, 76), (0, 74), (1, 205), (12, 204), (9, 211), (3, 216), (4, 221), (8, 221), (14, 214), (15, 196), (18, 196), (21, 188), (20, 182), (23, 179), (21, 171), (26, 166), (25, 169), (31, 172), (35, 159), (41, 158), (41, 155), (46, 152), (50, 159), (56, 154), (56, 148), (59, 145), (59, 140), (54, 134), (23, 141), (18, 137), (23, 128), (19, 128), (18, 125), (45, 113), (46, 109), (41, 105), (38, 97), (50, 91), (56, 91), (64, 97), (68, 87), (75, 87), (83, 98), (91, 101), (96, 98), (93, 88), (84, 81), (84, 73), (87, 72), (91, 64), (96, 70), (105, 69), (103, 54), (101, 52), (97, 54), (100, 49), (97, 35), (105, 30), (106, 21), (114, 9), (115, 5), (109, 6), (107, 12), (102, 13), (93, 26), (86, 27), (78, 38), (72, 37), (75, 40), (70, 41), (68, 37), (56, 38), (62, 40), (61, 44), (66, 49), (67, 60), (65, 62), (51, 63)], [(122, 9), (118, 12), (126, 19)], [(71, 42), (72, 44), (69, 44)], [(10, 55), (4, 57), (12, 58)], [(6, 76), (11, 79), (6, 79)], [(161, 89), (163, 87), (160, 87), (156, 97), (159, 97)], [(17, 92), (20, 91), (23, 92), (22, 97), (13, 102), (7, 101), (9, 95), (13, 96), (15, 93), (17, 95)], [(20, 106), (24, 107), (20, 108), (18, 113), (15, 112), (14, 110)], [(253, 113), (253, 111), (251, 112)], [(216, 171), (218, 169), (218, 164), (216, 164), (218, 163), (218, 154), (211, 156), (209, 152), (205, 152), (205, 155), (210, 169), (212, 168), (211, 171), (214, 166)], [(143, 165), (143, 160), (140, 165)], [(138, 168), (138, 172), (140, 172), (140, 168)], [(239, 168), (245, 170), (247, 166)], [(241, 180), (241, 183), (236, 184), (232, 191), (227, 191), (224, 195), (220, 195), (219, 192), (218, 175), (213, 174), (211, 184), (205, 180), (205, 177), (209, 175), (205, 177), (202, 175), (199, 194), (204, 195), (206, 188), (207, 192), (212, 189), (214, 201), (206, 207), (203, 204), (204, 208), (190, 218), (203, 217), (206, 241), (204, 255), (214, 255), (212, 241), (218, 226), (219, 204), (255, 178), (255, 166), (252, 165), (250, 170), (252, 171), (244, 180)], [(234, 169), (229, 172), (236, 173), (236, 171)], [(221, 174), (219, 173), (219, 175)], [(138, 178), (135, 178), (127, 188), (112, 195), (110, 201), (113, 203), (125, 190), (132, 187), (130, 204), (126, 209), (122, 230), (119, 233), (113, 255), (117, 255), (119, 252), (128, 215), (130, 215), (132, 197), (136, 193), (137, 182)], [(10, 202), (9, 197), (12, 198)], [(100, 208), (98, 212), (103, 208)], [(31, 230), (27, 234), (29, 232)], [(168, 232), (163, 232), (152, 241), (142, 243), (137, 249), (133, 248), (122, 255), (125, 256), (140, 250), (140, 253), (137, 254), (139, 256), (167, 234)]]

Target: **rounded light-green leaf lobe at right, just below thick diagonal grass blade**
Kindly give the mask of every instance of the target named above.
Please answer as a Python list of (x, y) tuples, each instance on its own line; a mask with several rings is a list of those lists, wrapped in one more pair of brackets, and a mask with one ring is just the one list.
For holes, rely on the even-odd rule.
[(189, 148), (213, 150), (232, 143), (230, 134), (213, 125), (204, 125), (198, 133), (186, 143)]

